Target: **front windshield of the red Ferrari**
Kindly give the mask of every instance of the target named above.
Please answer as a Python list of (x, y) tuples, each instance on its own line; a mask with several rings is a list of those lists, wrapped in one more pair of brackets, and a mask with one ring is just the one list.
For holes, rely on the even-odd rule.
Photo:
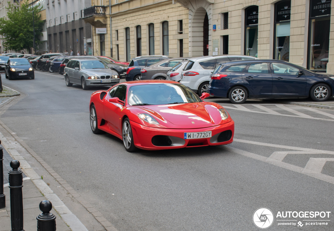
[(135, 85), (128, 94), (130, 105), (160, 105), (202, 102), (197, 94), (177, 83)]

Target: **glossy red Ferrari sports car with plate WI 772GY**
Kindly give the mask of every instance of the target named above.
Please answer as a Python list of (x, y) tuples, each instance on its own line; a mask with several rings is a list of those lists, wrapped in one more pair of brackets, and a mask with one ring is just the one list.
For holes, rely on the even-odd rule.
[(230, 144), (234, 121), (219, 104), (202, 100), (208, 96), (175, 81), (119, 83), (91, 95), (91, 128), (120, 138), (128, 152)]

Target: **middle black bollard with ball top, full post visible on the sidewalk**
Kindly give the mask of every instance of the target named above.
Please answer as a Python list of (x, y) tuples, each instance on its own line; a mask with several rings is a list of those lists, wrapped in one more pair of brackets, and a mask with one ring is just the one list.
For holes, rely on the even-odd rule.
[(9, 189), (10, 189), (10, 216), (12, 222), (11, 231), (24, 231), (23, 229), (23, 198), (22, 171), (18, 169), (20, 162), (13, 160), (10, 162), (12, 170), (9, 171)]

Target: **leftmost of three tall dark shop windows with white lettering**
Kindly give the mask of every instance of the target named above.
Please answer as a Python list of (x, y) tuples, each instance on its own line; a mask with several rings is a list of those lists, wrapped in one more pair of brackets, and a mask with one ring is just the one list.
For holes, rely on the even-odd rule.
[(245, 55), (258, 57), (259, 7), (250, 6), (245, 10)]

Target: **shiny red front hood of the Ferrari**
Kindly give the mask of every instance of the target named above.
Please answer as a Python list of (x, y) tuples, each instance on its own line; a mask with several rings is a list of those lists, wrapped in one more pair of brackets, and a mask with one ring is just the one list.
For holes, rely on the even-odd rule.
[(202, 103), (150, 105), (145, 107), (158, 119), (165, 119), (174, 125), (196, 128), (214, 124), (208, 110)]

